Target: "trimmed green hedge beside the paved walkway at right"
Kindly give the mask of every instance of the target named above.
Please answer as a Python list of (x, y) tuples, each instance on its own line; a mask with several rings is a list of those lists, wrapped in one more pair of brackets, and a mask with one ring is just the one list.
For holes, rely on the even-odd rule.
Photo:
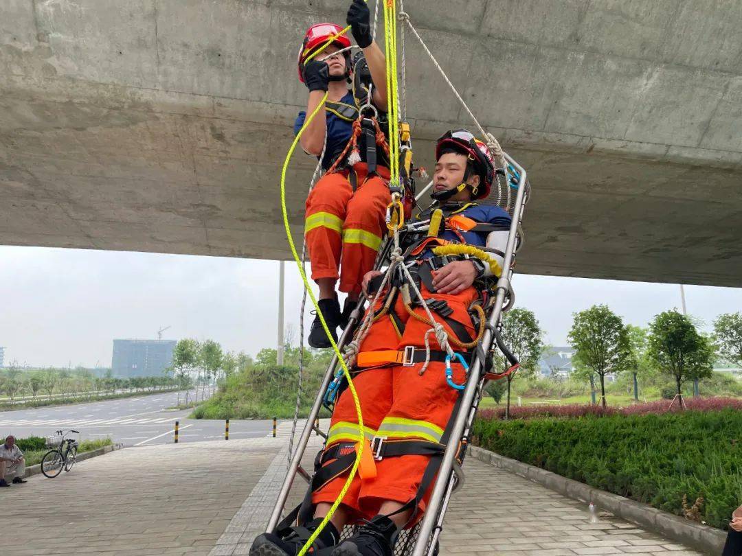
[(485, 420), (473, 442), (548, 471), (723, 529), (742, 503), (742, 412)]

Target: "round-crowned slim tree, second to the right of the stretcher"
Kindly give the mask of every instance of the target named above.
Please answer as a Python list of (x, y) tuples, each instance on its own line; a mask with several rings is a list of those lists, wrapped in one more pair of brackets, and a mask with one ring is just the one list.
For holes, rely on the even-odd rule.
[(574, 314), (568, 338), (576, 351), (574, 357), (600, 378), (600, 400), (605, 408), (605, 375), (620, 373), (628, 363), (630, 348), (623, 320), (608, 305), (593, 305)]

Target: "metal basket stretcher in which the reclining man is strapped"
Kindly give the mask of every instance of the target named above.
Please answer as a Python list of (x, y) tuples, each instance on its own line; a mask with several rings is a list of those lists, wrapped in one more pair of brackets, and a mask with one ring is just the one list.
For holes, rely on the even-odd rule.
[[(512, 222), (510, 223), (505, 245), (502, 275), (497, 279), (494, 288), (495, 301), (489, 310), (489, 314), (487, 314), (487, 325), (482, 342), (476, 348), (479, 356), (473, 357), (467, 374), (467, 382), (460, 394), (461, 403), (459, 404), (459, 410), (451, 418), (452, 425), (449, 436), (451, 440), (447, 443), (442, 456), (439, 471), (432, 486), (432, 494), (427, 503), (427, 509), (422, 519), (413, 528), (400, 533), (394, 547), (395, 555), (433, 556), (438, 554), (439, 537), (443, 529), (444, 517), (452, 494), (464, 483), (464, 472), (459, 460), (457, 460), (457, 456), (461, 458), (463, 455), (459, 455), (460, 448), (462, 445), (466, 446), (467, 444), (479, 402), (482, 400), (485, 384), (487, 380), (496, 377), (496, 374), (491, 373), (492, 369), (487, 368), (486, 362), (487, 360), (491, 360), (491, 357), (487, 357), (487, 355), (499, 351), (502, 357), (505, 357), (505, 360), (508, 360), (510, 363), (511, 370), (514, 370), (518, 365), (516, 357), (510, 353), (508, 347), (502, 342), (499, 330), (502, 328), (503, 313), (513, 306), (515, 299), (511, 287), (511, 279), (513, 277), (516, 251), (519, 250), (519, 246), (522, 245), (523, 241), (521, 222), (530, 194), (530, 185), (528, 184), (525, 169), (507, 153), (504, 153), (504, 156), (508, 163), (508, 172), (506, 173), (506, 178), (501, 180), (501, 187), (497, 192), (496, 199), (493, 199), (491, 195), (490, 199), (493, 199), (493, 202), (496, 202), (508, 211), (512, 217)], [(502, 187), (502, 182), (505, 182), (504, 188)], [(421, 228), (425, 229), (426, 222), (412, 222), (408, 223), (407, 226), (415, 226), (416, 231), (419, 231)], [(385, 244), (382, 245), (376, 259), (375, 268), (379, 269), (387, 264), (390, 255), (390, 244), (390, 240), (387, 239)], [(338, 340), (338, 347), (341, 349), (352, 340), (352, 331), (355, 330), (355, 325), (360, 322), (363, 316), (361, 313), (361, 308), (364, 307), (363, 301), (364, 299), (361, 298), (358, 308), (352, 312), (349, 324)], [(319, 430), (316, 423), (318, 423), (318, 415), (323, 407), (326, 391), (335, 378), (337, 367), (338, 358), (335, 355), (324, 374), (321, 387), (312, 405), (312, 410), (309, 412), (297, 447), (292, 454), (289, 469), (286, 472), (286, 477), (278, 494), (278, 500), (276, 500), (275, 507), (270, 515), (266, 532), (275, 532), (278, 524), (283, 519), (286, 501), (289, 498), (289, 492), (292, 489), (296, 475), (301, 475), (307, 483), (311, 484), (312, 474), (303, 468), (301, 460), (305, 454), (312, 431), (320, 434), (326, 440), (326, 434)], [(373, 448), (374, 446), (372, 445)], [(342, 532), (343, 537), (351, 535), (352, 531), (353, 528), (347, 526)]]

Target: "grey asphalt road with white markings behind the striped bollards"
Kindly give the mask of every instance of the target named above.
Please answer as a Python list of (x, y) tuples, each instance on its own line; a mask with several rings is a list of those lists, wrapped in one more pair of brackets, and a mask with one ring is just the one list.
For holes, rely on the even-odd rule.
[[(190, 397), (192, 399), (193, 392)], [(181, 400), (185, 394), (181, 394)], [(80, 431), (81, 440), (111, 437), (125, 446), (148, 446), (173, 442), (175, 421), (180, 422), (179, 443), (224, 438), (223, 420), (188, 419), (191, 409), (168, 409), (177, 403), (177, 392), (42, 407), (19, 411), (0, 411), (0, 438), (53, 434), (60, 428)], [(230, 420), (229, 437), (257, 438), (272, 434), (271, 420)]]

